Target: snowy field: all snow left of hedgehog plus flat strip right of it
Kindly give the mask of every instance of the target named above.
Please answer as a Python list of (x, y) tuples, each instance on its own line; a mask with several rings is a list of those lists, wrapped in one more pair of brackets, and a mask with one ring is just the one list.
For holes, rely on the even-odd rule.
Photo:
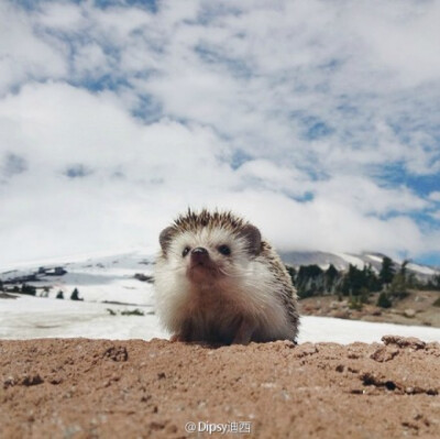
[[(43, 266), (48, 271), (63, 266), (67, 271), (62, 276), (42, 275), (37, 282), (29, 283), (38, 287), (37, 296), (45, 295), (43, 287), (48, 286), (47, 297), (16, 295), (15, 299), (0, 299), (0, 339), (167, 338), (154, 315), (153, 285), (135, 278), (136, 274), (152, 274), (153, 259), (152, 252), (133, 251), (84, 256), (76, 262), (58, 260), (23, 264), (3, 272), (0, 277), (4, 281), (35, 273)], [(78, 288), (84, 301), (69, 300), (74, 288)], [(63, 292), (64, 300), (55, 298), (59, 292)], [(135, 309), (143, 316), (121, 315)], [(436, 328), (302, 317), (299, 342), (374, 342), (385, 334), (440, 341), (440, 329)]]

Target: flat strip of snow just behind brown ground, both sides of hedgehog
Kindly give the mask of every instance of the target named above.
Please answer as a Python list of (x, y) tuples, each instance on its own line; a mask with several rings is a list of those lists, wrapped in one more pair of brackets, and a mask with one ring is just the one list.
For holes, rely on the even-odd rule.
[[(144, 316), (111, 316), (107, 309), (141, 309)], [(32, 296), (0, 299), (0, 339), (73, 338), (143, 339), (168, 338), (153, 307), (118, 306), (99, 303), (59, 300)], [(386, 334), (440, 341), (440, 329), (372, 323), (329, 317), (302, 317), (299, 342), (331, 341), (342, 344), (380, 342)]]

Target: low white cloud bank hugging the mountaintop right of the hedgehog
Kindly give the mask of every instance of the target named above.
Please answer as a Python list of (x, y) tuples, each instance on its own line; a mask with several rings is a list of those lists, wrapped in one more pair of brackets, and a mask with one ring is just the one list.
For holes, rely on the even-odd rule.
[(381, 220), (332, 200), (297, 202), (283, 195), (249, 190), (228, 195), (221, 205), (232, 206), (248, 218), (255, 219), (264, 234), (283, 251), (350, 249), (362, 252), (382, 249), (395, 255), (403, 243), (413, 252), (435, 250), (435, 243), (426, 242), (408, 218)]

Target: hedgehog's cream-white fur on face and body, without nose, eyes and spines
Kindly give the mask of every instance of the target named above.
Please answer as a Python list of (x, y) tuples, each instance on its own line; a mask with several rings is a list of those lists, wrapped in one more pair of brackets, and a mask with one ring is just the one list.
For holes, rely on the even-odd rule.
[[(217, 249), (227, 244), (231, 256)], [(202, 246), (226, 273), (210, 284), (195, 285), (188, 279), (182, 253), (185, 246)], [(167, 330), (178, 333), (185, 319), (197, 319), (199, 331), (208, 332), (212, 322), (228, 333), (237, 316), (248, 316), (255, 323), (253, 340), (295, 340), (296, 328), (288, 319), (286, 307), (274, 296), (278, 279), (265, 256), (250, 257), (244, 238), (223, 228), (201, 228), (176, 234), (169, 242), (166, 257), (161, 253), (155, 265), (156, 311)], [(202, 336), (201, 336), (202, 338)]]

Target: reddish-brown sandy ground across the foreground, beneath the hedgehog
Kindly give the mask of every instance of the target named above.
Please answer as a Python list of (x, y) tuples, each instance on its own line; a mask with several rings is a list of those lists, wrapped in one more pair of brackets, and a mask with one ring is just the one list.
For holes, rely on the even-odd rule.
[(440, 437), (440, 344), (417, 339), (0, 341), (0, 380), (2, 439)]

